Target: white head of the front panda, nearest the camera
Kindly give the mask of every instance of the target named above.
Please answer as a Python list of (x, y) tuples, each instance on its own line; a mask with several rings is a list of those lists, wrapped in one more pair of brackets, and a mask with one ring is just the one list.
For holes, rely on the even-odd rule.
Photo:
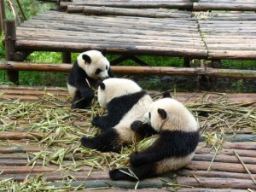
[(155, 131), (196, 131), (198, 128), (192, 113), (172, 98), (153, 102), (144, 114), (144, 121), (154, 127)]

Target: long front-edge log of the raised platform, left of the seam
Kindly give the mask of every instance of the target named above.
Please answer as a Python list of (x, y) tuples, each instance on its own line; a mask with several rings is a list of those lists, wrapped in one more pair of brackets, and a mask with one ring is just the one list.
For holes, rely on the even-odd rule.
[(193, 58), (206, 58), (207, 50), (205, 49), (185, 49), (172, 47), (150, 47), (150, 46), (129, 46), (125, 44), (86, 44), (73, 42), (48, 42), (48, 41), (32, 41), (20, 39), (16, 42), (17, 50), (45, 50), (45, 51), (74, 51), (88, 49), (106, 49), (109, 54), (131, 54), (131, 55), (172, 55), (172, 56), (190, 56)]

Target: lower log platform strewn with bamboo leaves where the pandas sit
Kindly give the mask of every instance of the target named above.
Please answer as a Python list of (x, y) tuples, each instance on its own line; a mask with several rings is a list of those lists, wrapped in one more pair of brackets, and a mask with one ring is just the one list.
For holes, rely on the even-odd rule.
[[(0, 90), (1, 186), (18, 181), (55, 189), (66, 183), (70, 190), (79, 187), (79, 191), (256, 189), (256, 94), (174, 94), (193, 113), (210, 113), (207, 119), (198, 117), (201, 143), (188, 166), (137, 183), (108, 177), (109, 167), (127, 160), (127, 155), (79, 146), (80, 137), (96, 133), (90, 120), (97, 111), (71, 110), (66, 88), (0, 85)], [(14, 181), (4, 180), (9, 178)]]

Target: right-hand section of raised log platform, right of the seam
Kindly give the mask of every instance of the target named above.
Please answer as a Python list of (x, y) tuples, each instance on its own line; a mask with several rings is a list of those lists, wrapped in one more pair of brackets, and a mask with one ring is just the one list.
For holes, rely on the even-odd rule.
[(229, 20), (227, 15), (226, 20), (199, 20), (199, 25), (209, 59), (256, 59), (256, 20)]

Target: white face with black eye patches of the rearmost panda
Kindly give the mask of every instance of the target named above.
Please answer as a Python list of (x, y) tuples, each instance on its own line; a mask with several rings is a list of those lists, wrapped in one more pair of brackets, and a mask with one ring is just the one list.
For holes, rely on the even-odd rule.
[(89, 50), (78, 56), (79, 67), (91, 79), (107, 79), (108, 69), (110, 67), (108, 59), (98, 50)]

